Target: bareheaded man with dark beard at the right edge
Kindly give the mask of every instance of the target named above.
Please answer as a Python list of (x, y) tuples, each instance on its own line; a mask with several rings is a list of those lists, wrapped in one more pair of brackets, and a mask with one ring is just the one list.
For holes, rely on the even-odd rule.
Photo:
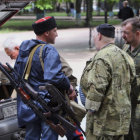
[(134, 140), (140, 140), (140, 18), (130, 18), (122, 23), (122, 37), (126, 41), (123, 50), (134, 59), (136, 68), (136, 81), (132, 88), (131, 126)]

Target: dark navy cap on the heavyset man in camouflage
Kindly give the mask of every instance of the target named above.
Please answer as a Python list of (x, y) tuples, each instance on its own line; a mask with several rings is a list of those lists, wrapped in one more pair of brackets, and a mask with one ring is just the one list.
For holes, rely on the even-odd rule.
[(115, 27), (110, 24), (101, 24), (97, 26), (97, 31), (104, 36), (114, 38), (115, 37)]

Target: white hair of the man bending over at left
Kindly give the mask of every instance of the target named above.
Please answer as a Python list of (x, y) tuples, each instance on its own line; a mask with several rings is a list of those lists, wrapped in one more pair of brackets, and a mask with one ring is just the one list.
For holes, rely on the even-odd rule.
[(8, 37), (4, 43), (3, 43), (3, 47), (8, 48), (8, 49), (14, 49), (15, 46), (20, 46), (22, 43), (22, 40), (20, 38), (17, 37)]

